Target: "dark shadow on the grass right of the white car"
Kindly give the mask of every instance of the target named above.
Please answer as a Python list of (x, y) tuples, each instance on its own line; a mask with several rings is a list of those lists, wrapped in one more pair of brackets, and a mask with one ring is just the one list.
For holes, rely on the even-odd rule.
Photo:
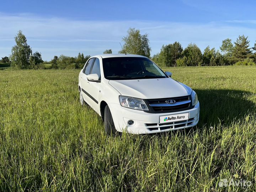
[(198, 127), (229, 125), (256, 112), (255, 93), (237, 90), (195, 90), (200, 102)]

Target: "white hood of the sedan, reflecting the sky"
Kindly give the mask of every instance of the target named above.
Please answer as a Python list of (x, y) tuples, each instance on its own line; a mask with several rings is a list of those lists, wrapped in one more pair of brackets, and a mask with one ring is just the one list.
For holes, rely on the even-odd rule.
[(192, 89), (171, 78), (110, 80), (121, 95), (143, 99), (170, 98), (190, 95)]

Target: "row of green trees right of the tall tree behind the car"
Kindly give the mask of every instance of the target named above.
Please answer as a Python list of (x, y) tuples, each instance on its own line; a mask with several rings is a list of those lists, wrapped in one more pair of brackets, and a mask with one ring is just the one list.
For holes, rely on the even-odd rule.
[(183, 49), (179, 42), (174, 42), (163, 45), (152, 60), (161, 66), (256, 65), (256, 43), (252, 48), (249, 43), (248, 37), (242, 35), (234, 44), (229, 38), (223, 40), (220, 46), (222, 53), (209, 46), (202, 53), (194, 43)]

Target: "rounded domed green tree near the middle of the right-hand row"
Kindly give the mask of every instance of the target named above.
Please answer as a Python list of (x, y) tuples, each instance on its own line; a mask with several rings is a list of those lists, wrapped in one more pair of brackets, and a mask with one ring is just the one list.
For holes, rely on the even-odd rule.
[(187, 66), (200, 66), (203, 63), (203, 55), (196, 44), (190, 43), (182, 52)]

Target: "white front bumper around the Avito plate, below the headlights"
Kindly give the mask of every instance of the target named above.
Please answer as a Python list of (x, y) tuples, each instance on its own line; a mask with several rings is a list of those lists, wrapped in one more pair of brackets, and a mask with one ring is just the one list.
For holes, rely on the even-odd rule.
[[(127, 131), (133, 134), (159, 133), (170, 130), (184, 129), (196, 126), (199, 120), (200, 106), (199, 102), (194, 108), (186, 111), (173, 113), (146, 113), (144, 111), (133, 110), (122, 107), (120, 104), (110, 103), (108, 105), (112, 114), (114, 125), (119, 132)], [(189, 113), (189, 119), (186, 121), (177, 121), (172, 123), (159, 122), (159, 116), (167, 116), (180, 113)], [(133, 125), (127, 122), (133, 120)]]

